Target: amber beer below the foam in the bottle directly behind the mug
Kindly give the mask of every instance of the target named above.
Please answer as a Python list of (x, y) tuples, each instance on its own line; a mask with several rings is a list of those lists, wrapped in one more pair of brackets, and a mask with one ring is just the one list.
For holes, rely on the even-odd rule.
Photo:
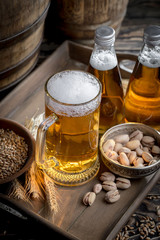
[(100, 133), (121, 123), (124, 119), (123, 89), (117, 65), (109, 70), (98, 70), (89, 65), (88, 71), (102, 83), (102, 100), (100, 107)]

